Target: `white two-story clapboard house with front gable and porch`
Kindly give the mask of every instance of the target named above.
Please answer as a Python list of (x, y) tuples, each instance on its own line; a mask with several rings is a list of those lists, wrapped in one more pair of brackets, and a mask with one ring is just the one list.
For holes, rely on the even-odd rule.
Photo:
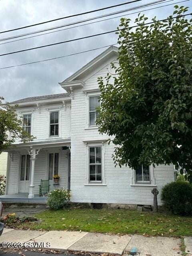
[[(36, 136), (33, 142), (16, 142), (9, 148), (6, 200), (24, 195), (38, 199), (41, 179), (60, 175), (61, 188), (72, 190), (72, 202), (152, 205), (151, 190), (174, 181), (174, 166), (140, 166), (137, 170), (115, 167), (114, 146), (95, 125), (99, 105), (97, 78), (113, 76), (118, 48), (112, 46), (60, 83), (63, 94), (25, 98), (18, 104), (24, 129)], [(31, 156), (30, 156), (30, 155)], [(30, 160), (31, 158), (31, 160)], [(26, 194), (23, 194), (26, 193)], [(22, 196), (21, 196), (22, 195)], [(5, 198), (2, 198), (5, 200)], [(160, 195), (158, 196), (159, 204)]]

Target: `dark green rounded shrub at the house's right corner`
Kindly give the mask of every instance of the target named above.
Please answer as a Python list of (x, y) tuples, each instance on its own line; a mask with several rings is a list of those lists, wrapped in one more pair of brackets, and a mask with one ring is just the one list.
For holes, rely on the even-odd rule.
[(161, 192), (164, 206), (175, 214), (192, 214), (192, 185), (185, 181), (166, 184)]

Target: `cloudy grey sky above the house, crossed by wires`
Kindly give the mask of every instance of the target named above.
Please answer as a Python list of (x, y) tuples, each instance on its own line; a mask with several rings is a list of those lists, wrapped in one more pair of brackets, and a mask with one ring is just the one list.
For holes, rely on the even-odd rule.
[[(124, 6), (119, 6), (100, 12), (94, 12), (74, 18), (50, 22), (44, 25), (16, 30), (13, 32), (2, 33), (0, 34), (0, 40), (19, 34), (34, 32), (37, 30), (42, 30), (68, 24), (71, 22), (76, 22), (79, 20), (84, 20), (87, 18), (100, 16), (102, 14), (116, 12), (118, 10), (125, 10), (134, 6), (140, 6), (142, 4), (155, 1), (156, 0), (142, 0), (133, 4), (127, 4)], [(166, 18), (168, 15), (172, 14), (174, 3), (180, 1), (182, 0), (166, 0), (162, 4), (148, 8), (154, 8), (165, 4), (173, 5), (148, 11), (146, 10), (148, 8), (139, 8), (135, 11), (127, 11), (122, 14), (122, 16), (129, 17), (134, 20), (138, 14), (131, 14), (132, 12), (146, 10), (144, 11), (144, 13), (150, 19), (153, 16), (157, 16), (157, 18), (163, 19)], [(80, 12), (86, 12), (106, 6), (120, 4), (123, 2), (128, 2), (128, 0), (0, 0), (0, 32), (13, 28), (18, 28), (21, 26), (35, 24), (38, 22), (43, 22), (46, 20), (69, 16)], [(182, 2), (178, 5), (189, 6), (189, 12), (192, 12), (192, 0), (189, 0), (188, 2)], [(114, 16), (119, 15), (120, 14)], [(0, 54), (26, 48), (32, 48), (45, 44), (52, 44), (55, 42), (70, 40), (78, 37), (84, 37), (91, 34), (98, 34), (109, 30), (115, 30), (119, 24), (119, 20), (120, 18), (114, 18), (103, 22), (97, 22), (95, 24), (88, 24), (86, 26), (80, 26), (77, 28), (70, 28), (68, 30), (62, 30), (60, 32), (36, 36), (16, 42), (10, 42), (16, 39), (3, 40), (0, 41)], [(42, 34), (42, 32), (39, 34)], [(20, 37), (19, 39), (25, 37)], [(1, 56), (0, 68), (73, 54), (76, 52), (114, 44), (116, 43), (116, 41), (117, 36), (116, 34), (112, 33), (89, 39), (79, 40), (76, 42), (69, 42), (27, 52)], [(94, 50), (92, 52), (78, 54), (66, 58), (60, 58), (57, 60), (50, 60), (38, 64), (30, 64), (26, 66), (2, 69), (0, 70), (0, 96), (4, 96), (6, 101), (10, 102), (12, 100), (26, 97), (62, 93), (64, 92), (64, 90), (60, 88), (58, 82), (63, 81), (65, 78), (67, 78), (76, 70), (89, 62), (92, 58), (100, 54), (103, 50), (105, 49)]]

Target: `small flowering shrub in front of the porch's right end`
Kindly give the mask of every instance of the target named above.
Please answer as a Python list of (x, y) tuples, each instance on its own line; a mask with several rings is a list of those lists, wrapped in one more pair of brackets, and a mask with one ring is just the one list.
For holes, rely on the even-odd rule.
[(70, 200), (69, 189), (57, 188), (48, 193), (47, 204), (53, 210), (61, 209)]

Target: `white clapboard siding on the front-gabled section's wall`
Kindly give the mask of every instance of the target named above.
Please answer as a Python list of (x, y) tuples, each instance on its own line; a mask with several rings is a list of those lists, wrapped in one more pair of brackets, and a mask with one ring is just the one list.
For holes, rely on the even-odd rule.
[[(84, 90), (98, 88), (97, 78), (106, 76), (108, 62), (104, 68), (96, 74), (92, 74), (85, 81)], [(87, 174), (86, 145), (83, 140), (97, 140), (108, 138), (100, 135), (97, 129), (85, 130), (86, 128), (86, 96), (82, 90), (74, 91), (74, 100), (71, 108), (71, 189), (73, 202), (98, 202), (116, 204), (153, 204), (153, 194), (150, 186), (131, 186), (133, 170), (123, 166), (114, 166), (112, 154), (114, 146), (105, 143), (105, 177), (106, 186), (85, 186)], [(174, 168), (171, 166), (156, 166), (154, 178), (158, 190), (167, 182), (174, 180)], [(159, 204), (160, 194), (158, 196)]]

